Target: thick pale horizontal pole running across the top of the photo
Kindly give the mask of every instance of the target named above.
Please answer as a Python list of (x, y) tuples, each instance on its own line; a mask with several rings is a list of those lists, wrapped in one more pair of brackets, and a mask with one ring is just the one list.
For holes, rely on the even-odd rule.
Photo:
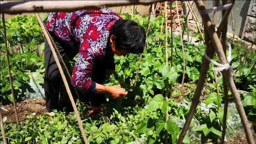
[(164, 0), (57, 0), (0, 2), (0, 13), (20, 14), (27, 12), (73, 12), (110, 6), (150, 5)]

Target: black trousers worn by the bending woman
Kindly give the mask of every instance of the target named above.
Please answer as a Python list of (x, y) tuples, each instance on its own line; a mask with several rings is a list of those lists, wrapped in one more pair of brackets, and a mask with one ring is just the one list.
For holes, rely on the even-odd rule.
[[(72, 72), (72, 68), (70, 68), (70, 60), (74, 58), (74, 56), (78, 53), (78, 50), (71, 49), (66, 44), (58, 40), (58, 38), (54, 38), (54, 43), (58, 48), (60, 55), (64, 59), (64, 56), (68, 56), (70, 59), (65, 57), (64, 61), (66, 66), (70, 69), (70, 73)], [(58, 70), (58, 66), (54, 60), (52, 55), (52, 51), (50, 50), (50, 46), (45, 39), (45, 48), (44, 48), (44, 60), (45, 60), (45, 73), (44, 73), (44, 92), (45, 92), (45, 99), (46, 99), (46, 109), (52, 111), (54, 109), (63, 110), (64, 107), (67, 108), (68, 112), (73, 111), (70, 99), (66, 92), (66, 88), (64, 86), (62, 77), (60, 75), (60, 71)], [(60, 61), (60, 58), (59, 58)], [(61, 63), (61, 61), (60, 61)], [(64, 71), (66, 74), (66, 72)], [(106, 66), (104, 62), (98, 61), (94, 64), (94, 69), (91, 73), (91, 79), (98, 83), (102, 84), (106, 77)], [(66, 74), (66, 79), (68, 81), (68, 85), (74, 100), (76, 100), (76, 93), (74, 92), (74, 88), (71, 84), (68, 75)], [(104, 94), (82, 94), (79, 92), (80, 98), (82, 101), (90, 103), (92, 106), (100, 106), (106, 102), (106, 98)]]

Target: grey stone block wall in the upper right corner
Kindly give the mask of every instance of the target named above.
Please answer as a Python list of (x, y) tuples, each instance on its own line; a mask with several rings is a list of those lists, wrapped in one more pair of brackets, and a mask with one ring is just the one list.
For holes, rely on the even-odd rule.
[(256, 0), (251, 0), (247, 12), (242, 40), (256, 44)]

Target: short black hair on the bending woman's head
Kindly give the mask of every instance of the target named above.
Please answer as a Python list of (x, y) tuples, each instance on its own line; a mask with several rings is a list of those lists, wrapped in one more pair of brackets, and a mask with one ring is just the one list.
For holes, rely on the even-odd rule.
[(116, 49), (126, 50), (133, 54), (143, 52), (146, 32), (137, 22), (133, 20), (118, 20), (110, 28), (109, 37), (114, 35)]

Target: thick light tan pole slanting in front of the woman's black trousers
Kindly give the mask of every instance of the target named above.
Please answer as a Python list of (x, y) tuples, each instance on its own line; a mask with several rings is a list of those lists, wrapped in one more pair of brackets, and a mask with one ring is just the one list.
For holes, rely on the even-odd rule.
[[(38, 18), (38, 16), (39, 16), (38, 13), (35, 13), (35, 15), (36, 15), (37, 18)], [(61, 65), (60, 65), (60, 62), (59, 62), (59, 60), (58, 60), (58, 56), (57, 56), (57, 54), (56, 54), (56, 52), (55, 52), (55, 50), (54, 50), (54, 47), (52, 46), (52, 42), (51, 42), (51, 40), (50, 40), (50, 37), (48, 36), (48, 34), (47, 34), (47, 32), (46, 32), (46, 29), (44, 28), (44, 24), (43, 24), (43, 22), (42, 22), (42, 20), (41, 20), (40, 18), (38, 19), (38, 23), (40, 24), (40, 27), (41, 27), (41, 29), (42, 29), (42, 31), (43, 31), (43, 33), (44, 33), (44, 36), (45, 36), (45, 38), (46, 38), (46, 40), (47, 40), (47, 42), (48, 42), (48, 44), (49, 44), (49, 46), (50, 46), (50, 48), (51, 48), (51, 51), (52, 51), (52, 55), (53, 55), (53, 57), (54, 57), (54, 60), (56, 61), (56, 64), (57, 64), (58, 69), (59, 69), (59, 71), (60, 71), (60, 75), (61, 75), (62, 80), (63, 80), (63, 82), (64, 82), (64, 85), (65, 85), (65, 87), (66, 87), (66, 90), (67, 90), (68, 96), (69, 96), (69, 98), (70, 98), (71, 104), (72, 104), (72, 106), (73, 106), (73, 108), (74, 108), (74, 112), (75, 112), (75, 114), (76, 114), (76, 119), (77, 119), (77, 121), (78, 121), (78, 125), (79, 125), (80, 131), (81, 131), (81, 133), (82, 133), (82, 137), (83, 137), (83, 139), (84, 139), (84, 142), (85, 142), (86, 144), (88, 144), (88, 141), (87, 141), (87, 138), (86, 138), (86, 135), (85, 135), (85, 132), (84, 132), (84, 128), (83, 128), (83, 126), (82, 126), (81, 118), (80, 118), (80, 116), (79, 116), (79, 114), (78, 114), (78, 110), (77, 110), (77, 108), (76, 108), (76, 104), (75, 104), (74, 99), (73, 99), (73, 96), (72, 96), (72, 94), (71, 94), (71, 92), (70, 92), (70, 89), (69, 89), (69, 86), (68, 86), (68, 82), (67, 82), (67, 80), (66, 80), (65, 74), (64, 74), (64, 72), (63, 72), (63, 70), (62, 70), (62, 67), (61, 67)]]

